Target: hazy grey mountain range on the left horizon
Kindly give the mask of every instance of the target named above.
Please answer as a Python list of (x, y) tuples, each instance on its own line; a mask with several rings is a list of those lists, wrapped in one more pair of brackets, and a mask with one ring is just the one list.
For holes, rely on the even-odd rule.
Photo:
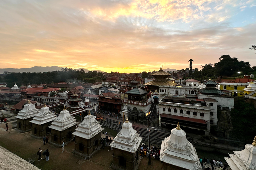
[[(51, 67), (39, 67), (39, 66), (35, 66), (35, 67), (31, 67), (31, 68), (0, 68), (0, 74), (3, 74), (4, 71), (9, 71), (9, 72), (18, 72), (18, 73), (22, 73), (22, 72), (48, 72), (48, 71), (61, 71), (62, 67), (58, 67), (58, 66), (51, 66)], [(90, 70), (85, 69), (85, 68), (78, 68), (75, 70), (81, 70), (83, 69), (86, 73)], [(100, 70), (92, 70), (92, 71), (100, 71)], [(100, 71), (103, 72), (103, 71)]]

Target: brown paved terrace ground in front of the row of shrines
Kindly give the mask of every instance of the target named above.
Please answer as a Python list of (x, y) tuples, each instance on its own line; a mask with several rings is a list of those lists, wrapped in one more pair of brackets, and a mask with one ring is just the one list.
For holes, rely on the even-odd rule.
[[(64, 147), (64, 152), (61, 153), (61, 148), (52, 146), (50, 144), (43, 144), (42, 139), (35, 139), (30, 136), (30, 132), (19, 133), (11, 128), (9, 122), (9, 130), (6, 131), (5, 124), (0, 125), (0, 145), (19, 157), (28, 160), (33, 159), (36, 167), (42, 170), (84, 170), (90, 168), (92, 170), (111, 170), (112, 150), (110, 147), (100, 149), (92, 158), (84, 160), (82, 157), (72, 153), (74, 149), (74, 142), (70, 142)], [(50, 139), (49, 139), (50, 140)], [(49, 161), (41, 159), (37, 161), (36, 155), (39, 147), (44, 151), (49, 149)], [(41, 156), (43, 158), (43, 156)], [(148, 165), (148, 158), (143, 158), (140, 162), (138, 170), (156, 169), (161, 170), (161, 162), (159, 160), (151, 160), (151, 165)], [(0, 165), (1, 169), (1, 165)]]

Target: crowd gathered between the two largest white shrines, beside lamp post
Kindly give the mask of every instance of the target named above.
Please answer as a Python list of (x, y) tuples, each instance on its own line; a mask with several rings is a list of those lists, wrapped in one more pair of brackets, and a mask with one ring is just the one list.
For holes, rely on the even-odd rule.
[[(149, 152), (150, 151), (150, 152)], [(160, 159), (160, 147), (156, 145), (151, 145), (148, 147), (144, 142), (140, 145), (140, 155), (150, 157), (151, 159)]]

